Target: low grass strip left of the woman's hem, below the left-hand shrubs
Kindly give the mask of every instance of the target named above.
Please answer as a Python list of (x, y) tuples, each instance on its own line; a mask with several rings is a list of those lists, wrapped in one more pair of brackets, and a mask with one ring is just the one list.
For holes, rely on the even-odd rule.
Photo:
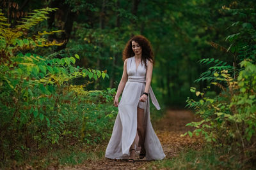
[(1, 166), (3, 169), (19, 169), (19, 168), (33, 168), (33, 169), (47, 169), (47, 167), (59, 166), (74, 166), (83, 164), (90, 160), (97, 162), (102, 159), (105, 154), (103, 149), (106, 143), (88, 146), (72, 146), (67, 148), (58, 148), (51, 150), (51, 152), (31, 153), (26, 158), (19, 160), (10, 160)]

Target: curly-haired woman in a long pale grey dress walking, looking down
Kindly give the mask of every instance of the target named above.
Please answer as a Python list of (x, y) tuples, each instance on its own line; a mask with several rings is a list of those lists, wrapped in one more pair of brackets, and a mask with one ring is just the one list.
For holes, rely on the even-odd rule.
[(157, 110), (160, 107), (150, 87), (154, 55), (148, 39), (132, 37), (124, 48), (123, 60), (124, 71), (114, 100), (118, 115), (105, 156), (134, 162), (140, 148), (140, 159), (163, 159), (163, 148), (150, 122), (149, 97)]

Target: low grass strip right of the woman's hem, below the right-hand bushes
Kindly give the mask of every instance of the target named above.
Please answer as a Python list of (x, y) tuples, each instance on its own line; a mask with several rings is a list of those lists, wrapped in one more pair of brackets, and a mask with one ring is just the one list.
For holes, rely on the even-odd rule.
[[(228, 150), (204, 146), (200, 150), (184, 148), (175, 158), (158, 160), (148, 164), (147, 169), (244, 169), (239, 155), (228, 154)], [(250, 167), (250, 166), (248, 166)]]

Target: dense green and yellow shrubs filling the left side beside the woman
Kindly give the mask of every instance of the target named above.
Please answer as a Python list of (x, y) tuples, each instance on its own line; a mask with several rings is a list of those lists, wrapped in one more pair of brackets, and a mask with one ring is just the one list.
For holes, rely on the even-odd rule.
[[(86, 85), (106, 78), (106, 71), (76, 67), (79, 55), (51, 59), (33, 53), (41, 46), (61, 45), (47, 35), (61, 31), (26, 31), (49, 11), (35, 10), (14, 28), (0, 13), (0, 150), (1, 159), (21, 159), (31, 150), (72, 143), (99, 143), (108, 138), (116, 109), (109, 105), (115, 89), (87, 91)], [(83, 87), (70, 84), (84, 78)], [(58, 145), (56, 145), (58, 144)]]

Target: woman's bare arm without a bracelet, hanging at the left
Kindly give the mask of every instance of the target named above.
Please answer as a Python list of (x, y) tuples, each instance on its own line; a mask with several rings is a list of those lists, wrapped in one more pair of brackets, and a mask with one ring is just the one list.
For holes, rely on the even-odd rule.
[(125, 59), (124, 61), (124, 71), (123, 71), (123, 75), (122, 78), (120, 80), (120, 83), (118, 85), (117, 91), (116, 91), (116, 95), (115, 95), (115, 100), (114, 100), (114, 105), (117, 107), (118, 106), (118, 99), (121, 95), (121, 93), (124, 90), (125, 84), (127, 82), (128, 79), (128, 74), (127, 74), (127, 59)]

